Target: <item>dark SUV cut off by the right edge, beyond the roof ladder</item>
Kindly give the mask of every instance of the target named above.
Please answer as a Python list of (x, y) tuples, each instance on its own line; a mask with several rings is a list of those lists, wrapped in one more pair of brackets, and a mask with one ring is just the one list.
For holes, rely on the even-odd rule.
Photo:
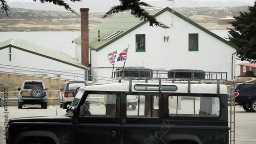
[(242, 83), (236, 87), (235, 101), (244, 110), (256, 112), (256, 83)]

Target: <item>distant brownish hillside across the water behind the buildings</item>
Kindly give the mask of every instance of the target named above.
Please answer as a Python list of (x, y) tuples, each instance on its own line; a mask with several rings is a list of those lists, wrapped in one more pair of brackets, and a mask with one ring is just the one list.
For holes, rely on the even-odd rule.
[[(231, 25), (217, 25), (217, 19), (248, 11), (243, 7), (174, 8), (175, 11), (207, 29), (226, 29)], [(90, 11), (89, 11), (90, 12)], [(104, 12), (89, 13), (89, 29), (110, 18)], [(80, 31), (80, 17), (71, 12), (11, 8), (9, 16), (0, 13), (0, 31)]]

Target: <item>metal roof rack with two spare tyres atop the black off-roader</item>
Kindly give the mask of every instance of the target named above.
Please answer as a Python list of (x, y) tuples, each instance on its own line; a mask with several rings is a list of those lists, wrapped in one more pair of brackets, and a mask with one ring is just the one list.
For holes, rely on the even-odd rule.
[(175, 69), (175, 70), (152, 70), (143, 68), (127, 68), (112, 71), (113, 80), (129, 80), (130, 91), (132, 90), (132, 81), (144, 80), (158, 82), (159, 91), (162, 89), (162, 81), (172, 82), (186, 81), (188, 84), (188, 93), (190, 93), (191, 81), (215, 81), (217, 82), (217, 93), (220, 93), (220, 81), (227, 81), (227, 72), (203, 71), (193, 69)]

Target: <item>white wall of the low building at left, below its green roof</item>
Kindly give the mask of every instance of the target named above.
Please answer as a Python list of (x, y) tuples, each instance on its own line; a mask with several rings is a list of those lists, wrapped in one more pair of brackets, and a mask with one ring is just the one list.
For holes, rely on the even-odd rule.
[[(0, 50), (0, 58), (1, 58), (0, 64), (12, 65), (12, 66), (1, 65), (0, 71), (11, 71), (14, 73), (29, 74), (29, 75), (52, 73), (52, 74), (47, 74), (47, 76), (54, 77), (56, 74), (58, 74), (58, 75), (61, 75), (60, 76), (61, 79), (84, 80), (84, 78), (80, 78), (82, 75), (84, 75), (84, 70), (81, 68), (64, 64), (58, 61), (54, 61), (52, 59), (41, 57), (28, 52), (24, 52), (24, 51), (15, 49), (13, 47), (11, 49), (12, 49), (11, 61), (9, 61), (9, 47), (6, 49)], [(20, 66), (25, 68), (15, 67), (15, 70), (14, 70), (13, 66)], [(11, 69), (8, 69), (8, 68), (11, 68)], [(46, 69), (46, 70), (39, 70), (39, 69)], [(49, 71), (49, 70), (56, 70), (56, 71)], [(75, 74), (67, 74), (65, 72), (75, 73)], [(65, 76), (65, 75), (69, 75), (69, 76)]]

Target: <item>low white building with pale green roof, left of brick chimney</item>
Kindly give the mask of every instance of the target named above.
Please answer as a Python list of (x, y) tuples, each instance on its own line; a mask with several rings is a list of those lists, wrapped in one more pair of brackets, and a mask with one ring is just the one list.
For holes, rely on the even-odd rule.
[(0, 71), (15, 74), (84, 80), (86, 66), (66, 53), (12, 38), (0, 42)]

